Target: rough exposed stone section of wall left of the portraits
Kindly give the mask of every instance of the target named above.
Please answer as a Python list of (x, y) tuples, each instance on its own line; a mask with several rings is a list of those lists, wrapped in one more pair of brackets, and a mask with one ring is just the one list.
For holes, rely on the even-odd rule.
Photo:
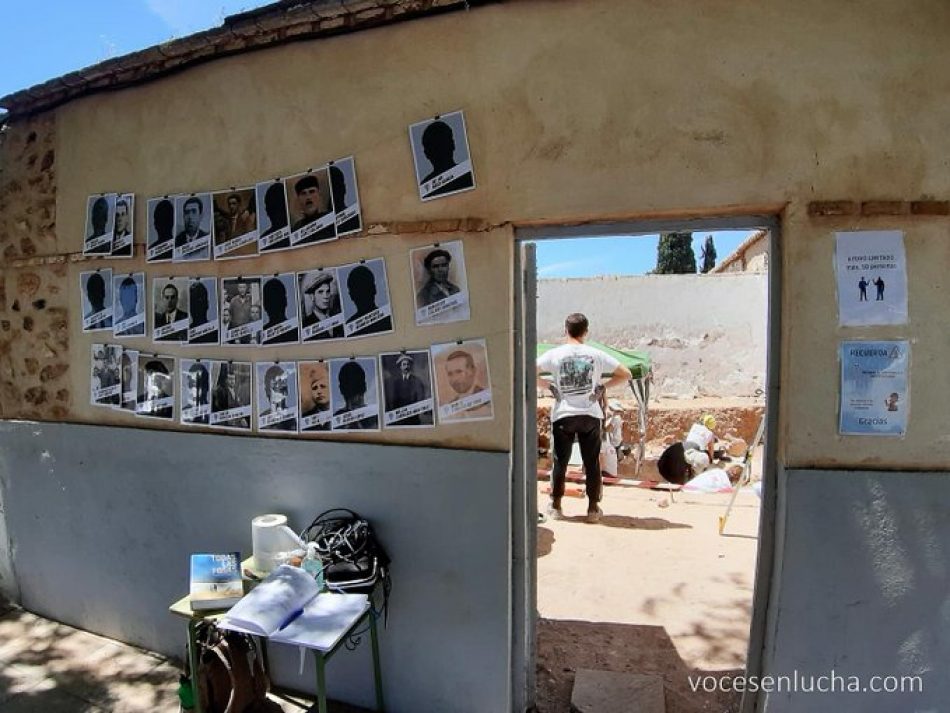
[(0, 417), (69, 413), (66, 256), (56, 240), (51, 115), (0, 131)]

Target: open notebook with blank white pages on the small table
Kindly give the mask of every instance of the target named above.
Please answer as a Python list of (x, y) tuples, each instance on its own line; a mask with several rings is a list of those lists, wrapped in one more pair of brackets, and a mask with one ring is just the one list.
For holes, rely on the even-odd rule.
[(367, 609), (365, 594), (320, 592), (307, 572), (281, 565), (231, 607), (218, 626), (329, 651)]

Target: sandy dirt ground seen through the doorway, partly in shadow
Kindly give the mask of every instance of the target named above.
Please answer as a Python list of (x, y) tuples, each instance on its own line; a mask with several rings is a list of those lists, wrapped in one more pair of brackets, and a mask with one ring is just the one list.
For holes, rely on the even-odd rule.
[[(544, 509), (546, 482), (538, 483)], [(599, 524), (585, 499), (565, 497), (567, 519), (538, 526), (538, 713), (570, 710), (574, 671), (664, 678), (667, 713), (733, 713), (737, 695), (693, 693), (687, 676), (744, 668), (759, 499), (607, 486)]]

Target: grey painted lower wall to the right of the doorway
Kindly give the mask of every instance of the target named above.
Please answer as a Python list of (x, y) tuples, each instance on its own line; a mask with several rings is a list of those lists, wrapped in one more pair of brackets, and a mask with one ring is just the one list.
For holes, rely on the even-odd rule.
[[(787, 473), (766, 674), (922, 676), (921, 693), (771, 693), (768, 713), (936, 713), (950, 701), (950, 473)], [(883, 681), (880, 681), (883, 683)], [(841, 684), (839, 684), (840, 686)], [(826, 684), (827, 687), (827, 684)]]

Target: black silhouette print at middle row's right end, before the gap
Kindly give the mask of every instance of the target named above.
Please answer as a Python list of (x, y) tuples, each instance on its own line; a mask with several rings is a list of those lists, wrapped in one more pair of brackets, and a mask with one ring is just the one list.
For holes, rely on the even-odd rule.
[(337, 268), (343, 298), (343, 333), (363, 337), (393, 331), (389, 282), (383, 258)]

